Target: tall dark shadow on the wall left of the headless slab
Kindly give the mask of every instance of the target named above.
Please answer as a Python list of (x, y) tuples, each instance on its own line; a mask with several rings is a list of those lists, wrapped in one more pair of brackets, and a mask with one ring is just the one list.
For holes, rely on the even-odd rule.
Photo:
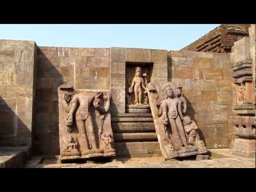
[(60, 63), (54, 60), (58, 57), (46, 57), (40, 48), (37, 57), (33, 152), (35, 155), (59, 155), (58, 86), (63, 84), (63, 77), (56, 67)]

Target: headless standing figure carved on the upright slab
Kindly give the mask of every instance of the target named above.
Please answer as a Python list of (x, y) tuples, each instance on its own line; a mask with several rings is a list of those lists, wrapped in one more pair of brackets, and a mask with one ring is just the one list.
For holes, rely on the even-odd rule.
[(79, 107), (76, 110), (75, 120), (77, 129), (81, 134), (83, 145), (85, 145), (86, 148), (86, 150), (82, 151), (83, 155), (87, 155), (89, 153), (100, 153), (100, 150), (97, 148), (93, 130), (93, 119), (90, 113), (90, 107), (92, 106), (94, 97), (94, 95), (89, 96), (81, 93), (76, 94), (71, 101), (71, 108), (67, 115), (67, 121), (72, 122), (73, 115), (79, 103)]

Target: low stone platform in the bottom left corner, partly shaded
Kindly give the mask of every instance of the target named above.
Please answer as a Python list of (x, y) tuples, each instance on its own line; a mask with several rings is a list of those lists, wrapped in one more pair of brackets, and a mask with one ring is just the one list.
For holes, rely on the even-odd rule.
[(0, 168), (23, 167), (28, 160), (30, 147), (0, 147)]

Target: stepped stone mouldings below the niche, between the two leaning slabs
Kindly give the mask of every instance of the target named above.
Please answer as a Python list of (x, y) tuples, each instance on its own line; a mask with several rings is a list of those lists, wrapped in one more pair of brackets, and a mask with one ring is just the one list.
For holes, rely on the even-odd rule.
[(151, 113), (119, 113), (111, 117), (117, 156), (161, 155)]

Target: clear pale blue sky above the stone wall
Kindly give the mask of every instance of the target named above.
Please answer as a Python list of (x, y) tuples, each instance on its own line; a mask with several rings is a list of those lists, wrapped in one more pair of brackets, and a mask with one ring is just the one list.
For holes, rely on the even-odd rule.
[(220, 24), (189, 25), (0, 25), (0, 39), (38, 46), (131, 47), (180, 50)]

